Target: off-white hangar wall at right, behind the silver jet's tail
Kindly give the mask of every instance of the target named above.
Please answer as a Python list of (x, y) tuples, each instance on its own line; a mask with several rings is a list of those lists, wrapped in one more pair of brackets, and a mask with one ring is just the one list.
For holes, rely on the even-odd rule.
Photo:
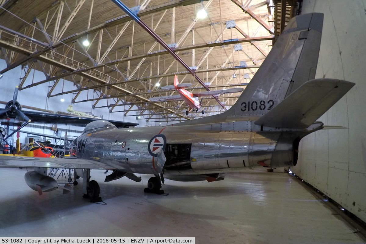
[(304, 0), (309, 12), (324, 13), (316, 78), (356, 85), (318, 119), (348, 129), (303, 138), (292, 171), (366, 222), (366, 0)]

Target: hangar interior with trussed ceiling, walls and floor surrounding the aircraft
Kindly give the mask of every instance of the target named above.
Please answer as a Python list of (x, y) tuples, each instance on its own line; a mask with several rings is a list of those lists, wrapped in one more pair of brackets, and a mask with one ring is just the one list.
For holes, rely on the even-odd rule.
[[(23, 182), (25, 169), (0, 170), (0, 236), (189, 236), (197, 243), (361, 243), (361, 227), (347, 224), (332, 199), (366, 222), (365, 121), (362, 106), (366, 49), (366, 1), (170, 0), (123, 1), (175, 52), (200, 83), (112, 1), (1, 0), (0, 102), (19, 86), (22, 109), (75, 110), (104, 119), (164, 126), (223, 112), (239, 95), (203, 97), (205, 113), (183, 100), (152, 102), (176, 94), (161, 89), (191, 83), (191, 92), (245, 89), (276, 38), (296, 14), (324, 13), (315, 78), (356, 83), (320, 117), (321, 130), (302, 139), (292, 172), (277, 169), (231, 174), (224, 181), (177, 183), (168, 196), (144, 194), (142, 183), (120, 179), (101, 184), (107, 205), (83, 200), (81, 189), (38, 196)], [(284, 7), (286, 6), (286, 7)], [(207, 16), (197, 14), (204, 9)], [(136, 10), (133, 9), (133, 11)], [(88, 41), (89, 44), (85, 43)], [(52, 48), (50, 45), (52, 43)], [(87, 44), (87, 45), (85, 45)], [(5, 105), (4, 105), (5, 106)], [(55, 134), (51, 124), (25, 129)], [(57, 125), (78, 136), (82, 127)], [(25, 142), (27, 135), (20, 134)], [(14, 135), (15, 138), (15, 135)], [(103, 172), (93, 177), (102, 179)], [(147, 181), (142, 176), (142, 182)], [(103, 180), (100, 180), (102, 182)], [(347, 218), (347, 217), (344, 217)], [(75, 228), (75, 225), (82, 226)]]

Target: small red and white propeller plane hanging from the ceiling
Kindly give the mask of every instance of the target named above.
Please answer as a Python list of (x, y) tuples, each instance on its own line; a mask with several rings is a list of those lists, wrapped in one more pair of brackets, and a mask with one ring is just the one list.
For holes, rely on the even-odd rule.
[[(236, 92), (241, 92), (244, 90), (244, 88), (230, 88), (230, 89), (223, 89), (223, 90), (216, 90), (216, 91), (203, 91), (200, 93), (191, 93), (189, 91), (187, 91), (184, 88), (190, 87), (192, 86), (192, 84), (190, 83), (182, 83), (179, 84), (177, 75), (174, 76), (174, 85), (171, 86), (163, 86), (161, 87), (161, 89), (165, 89), (165, 90), (171, 90), (174, 89), (176, 91), (178, 91), (179, 95), (171, 95), (171, 96), (165, 96), (165, 97), (152, 97), (149, 98), (150, 101), (153, 102), (157, 102), (157, 101), (169, 101), (169, 100), (175, 100), (175, 99), (180, 99), (182, 98), (184, 101), (186, 101), (186, 103), (188, 104), (188, 106), (190, 107), (187, 111), (186, 111), (186, 115), (188, 115), (189, 112), (191, 112), (192, 109), (196, 110), (198, 112), (199, 108), (201, 108), (201, 101), (198, 101), (198, 97), (203, 97), (203, 96), (209, 96), (209, 95), (214, 95), (214, 96), (219, 96), (225, 93), (236, 93)], [(204, 114), (205, 112), (202, 109), (202, 114)]]

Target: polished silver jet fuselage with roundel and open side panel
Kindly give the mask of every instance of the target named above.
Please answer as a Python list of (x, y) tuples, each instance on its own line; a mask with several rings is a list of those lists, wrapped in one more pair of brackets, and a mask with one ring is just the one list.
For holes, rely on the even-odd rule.
[(154, 153), (165, 147), (165, 174), (225, 173), (294, 165), (296, 137), (294, 132), (208, 131), (197, 125), (108, 129), (79, 136), (73, 150), (78, 158), (125, 172), (157, 174)]

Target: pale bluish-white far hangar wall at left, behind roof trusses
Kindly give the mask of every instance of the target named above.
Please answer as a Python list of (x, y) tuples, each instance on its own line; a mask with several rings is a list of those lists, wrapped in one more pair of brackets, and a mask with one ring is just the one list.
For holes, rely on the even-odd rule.
[[(5, 63), (5, 60), (0, 59), (0, 70), (3, 70), (6, 67), (7, 67), (7, 65)], [(15, 86), (19, 85), (20, 80), (21, 80), (20, 78), (22, 78), (24, 76), (24, 74), (25, 74), (25, 71), (22, 70), (20, 66), (4, 73), (4, 77), (0, 80), (0, 101), (7, 102), (7, 101), (10, 101), (13, 99)], [(37, 70), (36, 71), (32, 70), (30, 72), (29, 76), (27, 77), (27, 80), (25, 81), (23, 87), (30, 85), (32, 83), (32, 80), (35, 83), (35, 82), (39, 82), (44, 79), (45, 79), (45, 75), (43, 74), (43, 72), (37, 71)], [(44, 83), (42, 85), (38, 85), (38, 86), (34, 86), (34, 87), (30, 87), (30, 88), (21, 90), (18, 93), (18, 102), (21, 105), (27, 105), (27, 106), (32, 106), (32, 107), (41, 108), (41, 109), (48, 109), (48, 110), (54, 111), (55, 113), (57, 111), (67, 113), (67, 111), (66, 111), (67, 106), (71, 104), (71, 100), (74, 97), (74, 94), (70, 93), (70, 94), (47, 98), (48, 91), (50, 89), (50, 86), (52, 86), (52, 85), (53, 85), (53, 82), (51, 81), (51, 82)], [(65, 80), (64, 82), (60, 81), (57, 84), (57, 86), (52, 94), (61, 93), (62, 89), (64, 89), (64, 91), (75, 90), (76, 86), (74, 85), (74, 83), (67, 81), (67, 80)], [(88, 91), (82, 91), (81, 94), (79, 95), (79, 97), (77, 98), (77, 101), (87, 99), (87, 95), (88, 95)], [(89, 90), (88, 98), (89, 99), (93, 98), (93, 95), (94, 95), (94, 98), (97, 97), (97, 94), (95, 94), (95, 93), (93, 94), (93, 91)], [(61, 98), (64, 98), (65, 101), (61, 102), (60, 101)], [(105, 120), (117, 120), (117, 121), (139, 123), (138, 127), (143, 127), (146, 125), (146, 120), (137, 120), (136, 116), (124, 117), (123, 112), (109, 113), (108, 108), (97, 108), (97, 109), (92, 110), (93, 101), (81, 102), (81, 103), (76, 103), (76, 104), (72, 104), (72, 105), (73, 105), (73, 108), (78, 111), (93, 112), (94, 115), (96, 115), (96, 116), (103, 115), (103, 118)], [(105, 105), (107, 105), (107, 99), (101, 100), (97, 104), (97, 106), (105, 106)], [(5, 107), (5, 105), (0, 105), (0, 108), (4, 108), (4, 107)], [(123, 107), (124, 106), (116, 107), (115, 110), (123, 110)], [(137, 108), (133, 108), (133, 109), (137, 109)], [(29, 109), (25, 109), (25, 110), (29, 110)], [(131, 112), (130, 114), (132, 115), (133, 113), (136, 113), (136, 112)], [(51, 127), (51, 124), (48, 124), (47, 126)], [(59, 125), (57, 125), (57, 127), (64, 128), (64, 129), (78, 130), (78, 131), (82, 131), (84, 129), (84, 127), (75, 127), (72, 125), (64, 125), (64, 124), (59, 124)], [(31, 132), (35, 132), (35, 133), (42, 133), (42, 134), (53, 133), (52, 131), (50, 131), (48, 129), (29, 128), (29, 127), (25, 127), (25, 128), (23, 128), (23, 130), (31, 131)], [(64, 133), (62, 133), (62, 136), (63, 135), (64, 135)], [(68, 135), (69, 136), (78, 136), (80, 134), (68, 133)], [(24, 143), (25, 137), (26, 137), (26, 134), (20, 133), (20, 143)], [(14, 142), (15, 142), (16, 134), (13, 136), (13, 138), (14, 138)]]

